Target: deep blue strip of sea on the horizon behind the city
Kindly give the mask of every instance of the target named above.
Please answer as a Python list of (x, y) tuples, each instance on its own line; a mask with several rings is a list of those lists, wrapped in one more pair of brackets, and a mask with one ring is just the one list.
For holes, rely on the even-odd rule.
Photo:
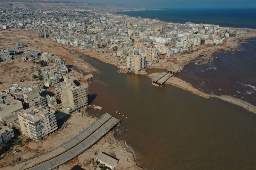
[(129, 16), (166, 22), (207, 23), (224, 27), (256, 29), (256, 8), (169, 8), (143, 11), (117, 12)]

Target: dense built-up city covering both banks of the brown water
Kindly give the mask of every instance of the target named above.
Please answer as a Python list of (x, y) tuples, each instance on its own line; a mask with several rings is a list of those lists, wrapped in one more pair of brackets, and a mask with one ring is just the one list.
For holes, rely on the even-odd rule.
[[(34, 35), (28, 37), (28, 42), (0, 37), (1, 74), (6, 73), (0, 79), (0, 144), (6, 149), (1, 151), (0, 167), (7, 169), (69, 169), (64, 163), (78, 159), (81, 153), (88, 154), (88, 159), (82, 162), (89, 169), (140, 169), (125, 144), (108, 133), (119, 120), (108, 113), (93, 117), (87, 112), (88, 108), (101, 109), (90, 101), (88, 93), (94, 75), (84, 75), (68, 65), (65, 57), (46, 49), (30, 48), (30, 43), (45, 39), (56, 47), (94, 55), (117, 66), (120, 73), (147, 74), (147, 68), (165, 69), (168, 73), (151, 75), (152, 83), (162, 86), (168, 79), (173, 83), (176, 77), (170, 77), (184, 63), (194, 61), (197, 56), (207, 59), (201, 54), (211, 55), (213, 49), (222, 48), (228, 39), (245, 34), (244, 30), (213, 24), (167, 23), (158, 18), (64, 8), (0, 9), (0, 31), (5, 36), (11, 31)], [(81, 126), (75, 125), (70, 116), (80, 120)], [(63, 130), (68, 128), (76, 130), (65, 134)], [(109, 136), (103, 140), (105, 134)], [(54, 138), (58, 142), (55, 140), (52, 145), (50, 141)], [(88, 149), (101, 140), (104, 149), (94, 146), (97, 149), (86, 153), (79, 148), (83, 145)], [(38, 150), (43, 147), (42, 141), (44, 147), (48, 146)], [(33, 144), (28, 147), (27, 143)], [(66, 150), (72, 154), (68, 155)], [(56, 155), (63, 155), (62, 160)]]

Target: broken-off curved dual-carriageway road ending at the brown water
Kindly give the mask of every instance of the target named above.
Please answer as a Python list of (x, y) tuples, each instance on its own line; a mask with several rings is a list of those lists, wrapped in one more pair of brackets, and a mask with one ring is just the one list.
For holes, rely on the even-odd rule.
[(26, 166), (23, 169), (54, 169), (69, 160), (73, 159), (77, 155), (81, 154), (92, 145), (94, 145), (101, 137), (103, 137), (112, 127), (118, 123), (118, 119), (105, 113), (103, 117), (91, 124), (87, 129), (85, 129), (81, 134), (70, 140), (63, 147), (66, 149), (64, 152), (45, 160), (39, 164), (33, 166)]

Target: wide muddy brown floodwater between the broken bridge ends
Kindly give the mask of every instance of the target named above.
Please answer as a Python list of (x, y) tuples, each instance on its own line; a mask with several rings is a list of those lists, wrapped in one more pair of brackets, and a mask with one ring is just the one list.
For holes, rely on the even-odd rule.
[[(89, 101), (119, 118), (123, 140), (146, 169), (256, 169), (256, 115), (219, 99), (204, 99), (151, 79), (121, 74), (81, 56), (98, 69)], [(124, 117), (122, 116), (124, 115)], [(125, 117), (128, 117), (127, 119)]]

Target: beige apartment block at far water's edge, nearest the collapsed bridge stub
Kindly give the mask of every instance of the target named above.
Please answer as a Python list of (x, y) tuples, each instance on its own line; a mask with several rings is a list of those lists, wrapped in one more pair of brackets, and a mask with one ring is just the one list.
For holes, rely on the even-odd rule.
[(128, 71), (138, 74), (147, 66), (146, 57), (141, 55), (130, 55), (126, 60)]

